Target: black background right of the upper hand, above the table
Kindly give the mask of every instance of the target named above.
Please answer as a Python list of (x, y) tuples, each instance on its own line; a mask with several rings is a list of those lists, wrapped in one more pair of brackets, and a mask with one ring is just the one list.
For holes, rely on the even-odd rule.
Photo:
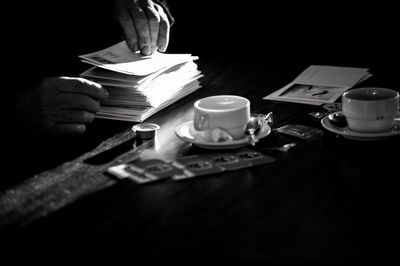
[(171, 50), (266, 64), (395, 65), (397, 9), (382, 1), (174, 1)]

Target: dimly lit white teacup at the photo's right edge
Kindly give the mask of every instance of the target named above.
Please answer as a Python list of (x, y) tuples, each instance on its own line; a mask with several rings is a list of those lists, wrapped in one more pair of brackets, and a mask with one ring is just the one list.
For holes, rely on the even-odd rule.
[(392, 89), (365, 87), (342, 95), (348, 127), (360, 132), (383, 132), (393, 127), (399, 113), (399, 93)]

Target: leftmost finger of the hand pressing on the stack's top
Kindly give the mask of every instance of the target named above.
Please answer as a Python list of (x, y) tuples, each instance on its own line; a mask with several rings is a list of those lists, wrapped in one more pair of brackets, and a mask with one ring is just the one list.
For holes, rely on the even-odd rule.
[(133, 52), (138, 51), (139, 50), (138, 37), (129, 10), (126, 9), (124, 6), (117, 4), (114, 13), (115, 16), (117, 17), (119, 24), (121, 25), (122, 31), (124, 32), (125, 35), (125, 40), (129, 48)]

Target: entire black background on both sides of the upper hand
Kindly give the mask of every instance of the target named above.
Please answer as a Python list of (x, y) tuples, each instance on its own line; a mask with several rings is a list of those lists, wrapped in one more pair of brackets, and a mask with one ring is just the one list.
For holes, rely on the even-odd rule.
[[(21, 83), (76, 76), (77, 56), (122, 40), (114, 0), (18, 1), (3, 18), (3, 62)], [(399, 16), (383, 1), (169, 0), (175, 18), (170, 53), (246, 58), (269, 65), (332, 64), (397, 68)], [(393, 73), (396, 73), (394, 71)], [(22, 74), (22, 75), (21, 75)]]

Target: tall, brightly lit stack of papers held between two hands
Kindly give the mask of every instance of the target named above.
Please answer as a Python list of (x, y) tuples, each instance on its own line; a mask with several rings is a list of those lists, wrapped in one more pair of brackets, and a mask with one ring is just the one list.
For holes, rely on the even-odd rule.
[(96, 117), (142, 122), (162, 108), (201, 87), (203, 75), (190, 54), (133, 53), (126, 42), (80, 55), (94, 65), (81, 77), (104, 86), (110, 97), (101, 103)]

